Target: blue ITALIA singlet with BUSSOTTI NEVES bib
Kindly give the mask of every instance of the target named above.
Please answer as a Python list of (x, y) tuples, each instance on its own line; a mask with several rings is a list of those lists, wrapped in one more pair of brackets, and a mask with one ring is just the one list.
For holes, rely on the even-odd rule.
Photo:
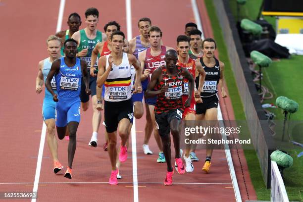
[(58, 97), (78, 98), (82, 77), (80, 59), (76, 58), (76, 64), (73, 67), (68, 67), (65, 64), (64, 58), (65, 57), (60, 58), (60, 70), (59, 73), (55, 75)]

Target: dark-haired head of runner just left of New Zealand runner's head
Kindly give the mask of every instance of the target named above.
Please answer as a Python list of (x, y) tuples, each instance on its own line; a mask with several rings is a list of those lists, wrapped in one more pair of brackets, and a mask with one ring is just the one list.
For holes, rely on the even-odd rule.
[(202, 32), (195, 29), (190, 31), (189, 35), (191, 39), (191, 48), (189, 50), (189, 54), (193, 54), (198, 58), (202, 57)]

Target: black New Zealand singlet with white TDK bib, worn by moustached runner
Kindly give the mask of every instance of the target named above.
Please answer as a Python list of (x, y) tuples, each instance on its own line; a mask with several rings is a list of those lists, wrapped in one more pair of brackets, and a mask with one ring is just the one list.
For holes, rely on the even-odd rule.
[[(219, 60), (217, 60), (216, 58), (214, 59), (216, 61), (215, 65), (213, 67), (207, 67), (204, 64), (203, 59), (200, 58), (202, 67), (204, 68), (206, 73), (205, 81), (201, 93), (201, 97), (203, 98), (214, 96), (218, 92), (217, 87), (220, 80), (220, 65), (219, 65)], [(195, 82), (196, 82), (196, 86), (199, 86), (199, 77), (196, 78)]]

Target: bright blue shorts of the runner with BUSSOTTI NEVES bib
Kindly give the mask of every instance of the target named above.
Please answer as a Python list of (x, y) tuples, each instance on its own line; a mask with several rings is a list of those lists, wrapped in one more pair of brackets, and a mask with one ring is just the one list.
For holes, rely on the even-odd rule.
[(65, 127), (69, 122), (80, 123), (80, 98), (59, 98), (56, 102), (56, 126)]

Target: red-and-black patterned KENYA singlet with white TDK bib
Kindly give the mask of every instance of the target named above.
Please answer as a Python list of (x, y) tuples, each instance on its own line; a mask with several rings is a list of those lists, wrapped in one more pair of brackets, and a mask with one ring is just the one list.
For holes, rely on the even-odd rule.
[(169, 76), (166, 73), (166, 66), (161, 67), (162, 71), (162, 80), (157, 85), (158, 89), (161, 89), (163, 86), (168, 85), (168, 91), (163, 94), (159, 94), (157, 101), (155, 103), (154, 111), (157, 114), (167, 112), (172, 109), (183, 109), (182, 103), (182, 84), (183, 84), (183, 76), (182, 76), (182, 67), (177, 66), (178, 75), (177, 76)]

